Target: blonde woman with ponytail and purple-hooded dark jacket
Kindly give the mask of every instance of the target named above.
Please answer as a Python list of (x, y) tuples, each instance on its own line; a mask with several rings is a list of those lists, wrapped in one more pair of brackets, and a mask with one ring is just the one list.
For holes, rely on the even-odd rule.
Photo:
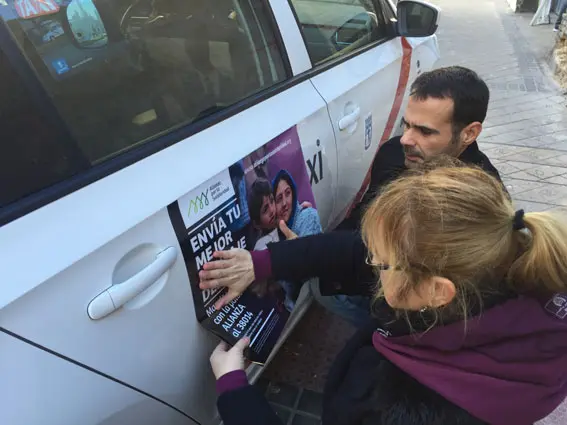
[[(375, 320), (331, 368), (323, 425), (531, 425), (565, 399), (565, 222), (515, 211), (494, 177), (451, 164), (388, 185), (362, 235)], [(254, 279), (224, 261), (231, 291)], [(224, 423), (276, 424), (237, 366), (245, 343), (211, 357)]]

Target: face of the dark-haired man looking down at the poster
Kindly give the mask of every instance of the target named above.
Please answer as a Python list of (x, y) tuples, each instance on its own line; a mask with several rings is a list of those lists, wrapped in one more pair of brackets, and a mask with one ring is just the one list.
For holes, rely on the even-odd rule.
[(453, 135), (453, 100), (410, 97), (403, 118), (402, 146), (405, 165), (418, 166), (425, 159), (446, 154), (457, 157), (464, 150), (460, 137)]

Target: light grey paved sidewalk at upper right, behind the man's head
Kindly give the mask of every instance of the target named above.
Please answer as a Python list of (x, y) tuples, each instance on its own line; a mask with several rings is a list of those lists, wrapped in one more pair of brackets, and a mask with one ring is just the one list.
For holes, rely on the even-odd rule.
[(567, 101), (541, 63), (545, 55), (530, 50), (526, 39), (530, 31), (539, 37), (542, 28), (528, 27), (504, 0), (434, 3), (443, 9), (439, 66), (470, 67), (490, 86), (479, 143), (517, 206), (528, 212), (566, 206)]

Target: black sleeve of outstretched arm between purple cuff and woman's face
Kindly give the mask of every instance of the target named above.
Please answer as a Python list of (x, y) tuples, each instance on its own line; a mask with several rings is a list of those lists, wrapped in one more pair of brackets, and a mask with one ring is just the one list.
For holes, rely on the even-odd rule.
[(331, 292), (371, 295), (376, 286), (367, 250), (358, 232), (335, 231), (268, 245), (272, 275), (276, 280), (305, 281), (318, 277), (323, 285), (341, 284)]

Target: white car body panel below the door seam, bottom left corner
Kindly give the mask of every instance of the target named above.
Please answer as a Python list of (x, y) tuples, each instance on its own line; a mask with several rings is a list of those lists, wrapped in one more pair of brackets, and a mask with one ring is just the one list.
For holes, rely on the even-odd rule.
[(0, 347), (0, 423), (197, 425), (135, 389), (3, 332)]

